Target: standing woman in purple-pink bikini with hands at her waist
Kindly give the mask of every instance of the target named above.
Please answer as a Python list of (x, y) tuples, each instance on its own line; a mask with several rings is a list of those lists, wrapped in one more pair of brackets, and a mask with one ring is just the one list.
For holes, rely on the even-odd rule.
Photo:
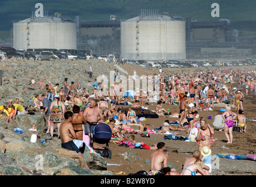
[[(226, 106), (227, 111), (223, 113), (222, 117), (225, 120), (224, 133), (227, 137), (227, 144), (232, 144), (233, 141), (233, 119), (237, 117), (237, 114), (231, 111), (231, 106)], [(229, 136), (228, 136), (229, 133)]]

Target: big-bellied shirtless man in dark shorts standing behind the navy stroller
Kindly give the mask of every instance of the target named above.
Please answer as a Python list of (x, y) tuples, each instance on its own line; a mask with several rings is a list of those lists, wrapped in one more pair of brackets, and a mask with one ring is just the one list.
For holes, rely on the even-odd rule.
[[(93, 129), (96, 126), (97, 122), (104, 122), (102, 110), (97, 107), (97, 102), (95, 99), (90, 100), (89, 107), (87, 106), (86, 109), (83, 111), (83, 117), (87, 121), (85, 124), (85, 134), (90, 137), (93, 135)], [(90, 145), (92, 146), (92, 142), (90, 139)]]

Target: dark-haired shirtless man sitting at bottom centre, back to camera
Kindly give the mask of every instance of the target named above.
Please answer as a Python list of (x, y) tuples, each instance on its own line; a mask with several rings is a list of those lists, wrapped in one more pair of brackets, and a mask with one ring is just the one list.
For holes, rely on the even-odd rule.
[(164, 150), (166, 150), (165, 143), (159, 142), (157, 150), (150, 155), (150, 171), (155, 172), (156, 175), (161, 174), (162, 164), (164, 168), (168, 166), (168, 155), (163, 153)]

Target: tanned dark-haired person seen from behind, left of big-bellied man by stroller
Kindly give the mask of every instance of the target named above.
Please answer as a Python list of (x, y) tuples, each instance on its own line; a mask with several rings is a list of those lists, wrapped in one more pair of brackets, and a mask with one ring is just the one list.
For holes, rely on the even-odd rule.
[(78, 140), (83, 140), (83, 125), (86, 124), (86, 120), (83, 116), (79, 114), (80, 107), (78, 105), (73, 106), (73, 119), (72, 119), (72, 126), (76, 133), (76, 137)]

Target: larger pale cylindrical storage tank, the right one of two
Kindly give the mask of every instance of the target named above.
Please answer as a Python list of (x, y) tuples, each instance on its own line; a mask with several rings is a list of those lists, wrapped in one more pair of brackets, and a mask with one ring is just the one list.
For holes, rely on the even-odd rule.
[(132, 60), (186, 59), (186, 22), (163, 15), (122, 22), (121, 56)]

